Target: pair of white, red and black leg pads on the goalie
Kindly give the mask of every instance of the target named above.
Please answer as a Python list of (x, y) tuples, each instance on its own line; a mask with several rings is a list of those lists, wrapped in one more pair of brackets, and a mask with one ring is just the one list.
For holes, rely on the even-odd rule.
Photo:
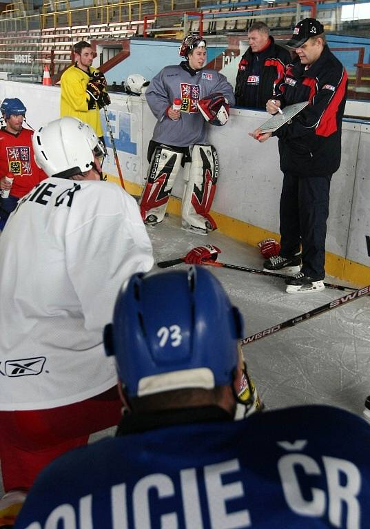
[[(145, 224), (158, 224), (165, 216), (169, 196), (184, 154), (167, 145), (156, 147), (140, 198)], [(217, 228), (209, 214), (218, 178), (218, 156), (213, 145), (194, 145), (192, 162), (185, 163), (182, 225), (188, 231), (207, 235)]]

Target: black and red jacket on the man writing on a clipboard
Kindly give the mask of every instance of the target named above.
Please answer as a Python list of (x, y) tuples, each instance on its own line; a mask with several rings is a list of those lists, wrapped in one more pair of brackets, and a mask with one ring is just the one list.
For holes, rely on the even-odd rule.
[[(326, 176), (340, 166), (342, 117), (347, 72), (325, 45), (307, 70), (296, 59), (278, 86), (281, 107), (309, 101), (300, 114), (274, 132), (279, 138), (280, 169)], [(280, 95), (279, 95), (280, 94)]]

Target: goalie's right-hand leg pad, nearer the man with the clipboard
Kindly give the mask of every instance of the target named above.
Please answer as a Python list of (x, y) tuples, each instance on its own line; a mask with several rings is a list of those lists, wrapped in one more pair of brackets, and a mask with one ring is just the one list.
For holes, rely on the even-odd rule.
[[(189, 164), (187, 164), (189, 165)], [(183, 228), (207, 235), (217, 228), (209, 215), (218, 178), (218, 156), (213, 145), (194, 145), (192, 163), (185, 171), (181, 216)]]

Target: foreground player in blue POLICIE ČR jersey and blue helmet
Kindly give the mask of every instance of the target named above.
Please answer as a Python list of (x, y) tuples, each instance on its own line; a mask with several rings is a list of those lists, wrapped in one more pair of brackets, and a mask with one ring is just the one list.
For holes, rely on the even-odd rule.
[(41, 473), (16, 529), (366, 529), (369, 425), (329, 406), (233, 422), (240, 377), (238, 404), (256, 396), (241, 336), (209, 271), (135, 274), (104, 338), (127, 414)]

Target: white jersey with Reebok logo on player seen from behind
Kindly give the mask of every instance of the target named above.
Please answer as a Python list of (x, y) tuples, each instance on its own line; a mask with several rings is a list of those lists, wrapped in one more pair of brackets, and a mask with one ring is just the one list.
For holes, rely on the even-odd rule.
[(153, 266), (134, 198), (48, 178), (0, 236), (0, 410), (54, 408), (116, 383), (103, 348), (119, 288)]

